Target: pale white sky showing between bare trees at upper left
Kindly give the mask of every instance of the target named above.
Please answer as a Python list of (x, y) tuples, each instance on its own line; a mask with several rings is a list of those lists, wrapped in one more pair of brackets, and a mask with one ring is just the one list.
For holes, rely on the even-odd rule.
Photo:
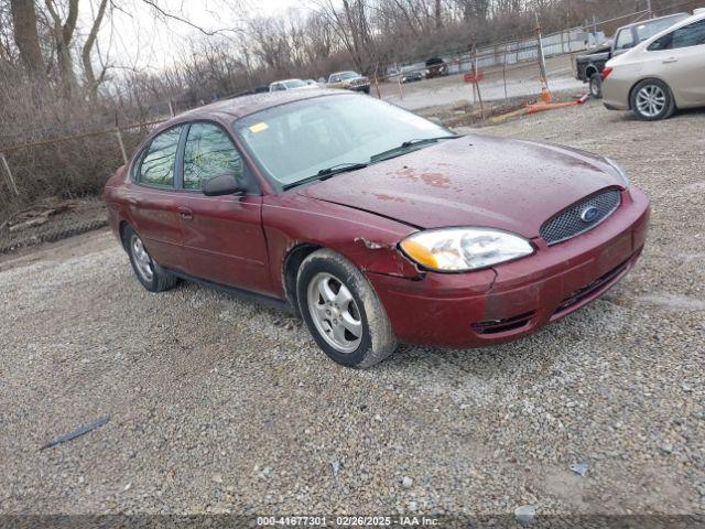
[[(164, 11), (209, 32), (232, 28), (242, 18), (271, 17), (290, 9), (307, 9), (302, 0), (153, 1)], [(203, 32), (177, 20), (167, 19), (164, 23), (164, 19), (159, 18), (144, 0), (115, 3), (121, 9), (113, 9), (110, 20), (104, 22), (98, 48), (104, 61), (117, 69), (159, 71), (169, 67), (180, 53), (188, 50), (192, 42), (207, 39)], [(87, 32), (98, 0), (84, 0), (79, 6), (82, 28)], [(232, 32), (223, 34), (236, 37)]]

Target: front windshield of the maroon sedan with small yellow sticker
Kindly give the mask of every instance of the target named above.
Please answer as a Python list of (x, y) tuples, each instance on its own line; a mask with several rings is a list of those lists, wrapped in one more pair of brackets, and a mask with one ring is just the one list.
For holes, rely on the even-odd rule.
[(359, 95), (280, 105), (238, 119), (232, 127), (280, 187), (339, 164), (369, 163), (376, 154), (410, 140), (449, 133), (399, 107)]

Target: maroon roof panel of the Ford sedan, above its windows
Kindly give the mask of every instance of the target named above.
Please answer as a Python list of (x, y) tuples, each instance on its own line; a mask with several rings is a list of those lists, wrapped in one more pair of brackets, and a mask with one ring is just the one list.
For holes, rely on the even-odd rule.
[(313, 99), (322, 96), (350, 94), (348, 90), (334, 90), (328, 88), (312, 88), (308, 90), (282, 90), (265, 91), (261, 94), (252, 94), (249, 96), (236, 97), (234, 99), (223, 99), (204, 107), (194, 108), (182, 112), (169, 121), (162, 123), (161, 129), (166, 129), (172, 125), (182, 121), (191, 121), (194, 119), (213, 119), (218, 118), (230, 121), (237, 118), (249, 116), (268, 108), (278, 107), (288, 102), (299, 101), (303, 99)]

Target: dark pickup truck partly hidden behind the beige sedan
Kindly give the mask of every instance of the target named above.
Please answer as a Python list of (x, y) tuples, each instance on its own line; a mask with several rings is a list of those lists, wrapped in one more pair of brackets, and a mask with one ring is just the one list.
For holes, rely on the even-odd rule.
[(644, 20), (623, 25), (615, 33), (615, 39), (606, 46), (598, 47), (590, 53), (578, 55), (575, 60), (578, 80), (589, 83), (590, 95), (601, 97), (603, 69), (612, 57), (621, 55), (640, 42), (650, 39), (661, 31), (687, 19), (687, 13), (669, 14), (658, 19)]

